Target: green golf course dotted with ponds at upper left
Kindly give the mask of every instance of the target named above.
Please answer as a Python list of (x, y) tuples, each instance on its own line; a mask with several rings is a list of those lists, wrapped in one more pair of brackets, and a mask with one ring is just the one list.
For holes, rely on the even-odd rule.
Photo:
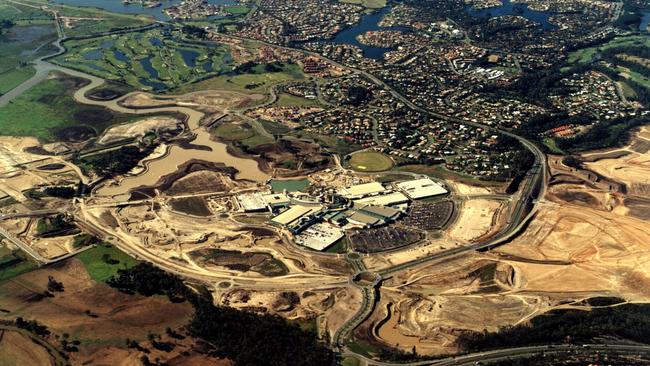
[(178, 32), (153, 29), (65, 43), (56, 63), (139, 89), (170, 90), (230, 71), (226, 46), (185, 43)]

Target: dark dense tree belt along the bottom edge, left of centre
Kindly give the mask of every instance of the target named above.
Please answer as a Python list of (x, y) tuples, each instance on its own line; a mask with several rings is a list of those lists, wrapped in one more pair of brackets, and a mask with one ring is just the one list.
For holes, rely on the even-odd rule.
[(128, 293), (166, 294), (172, 301), (188, 300), (195, 311), (189, 325), (192, 336), (206, 341), (215, 348), (214, 354), (238, 366), (329, 366), (334, 362), (334, 354), (314, 334), (277, 316), (216, 307), (209, 293), (197, 293), (177, 276), (149, 263), (119, 270), (108, 284)]

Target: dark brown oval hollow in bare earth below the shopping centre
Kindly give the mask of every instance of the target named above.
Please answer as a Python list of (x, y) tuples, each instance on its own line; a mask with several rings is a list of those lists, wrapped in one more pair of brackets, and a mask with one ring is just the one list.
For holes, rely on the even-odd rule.
[(188, 253), (201, 266), (226, 267), (239, 272), (256, 272), (264, 277), (284, 276), (289, 269), (268, 253), (246, 252), (223, 249), (199, 249)]

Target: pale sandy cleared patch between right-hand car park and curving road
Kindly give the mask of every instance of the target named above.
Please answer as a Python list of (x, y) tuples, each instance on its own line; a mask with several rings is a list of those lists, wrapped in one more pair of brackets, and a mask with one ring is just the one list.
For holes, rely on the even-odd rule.
[(460, 216), (449, 231), (449, 237), (470, 242), (495, 230), (495, 217), (502, 208), (499, 201), (477, 199), (463, 203)]

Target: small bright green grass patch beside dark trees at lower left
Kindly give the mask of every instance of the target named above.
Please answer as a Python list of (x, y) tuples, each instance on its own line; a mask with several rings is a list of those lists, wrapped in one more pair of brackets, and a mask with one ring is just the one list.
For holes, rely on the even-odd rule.
[(104, 244), (81, 252), (75, 258), (84, 264), (90, 277), (97, 282), (105, 282), (115, 276), (119, 269), (130, 268), (138, 263), (116, 247)]

